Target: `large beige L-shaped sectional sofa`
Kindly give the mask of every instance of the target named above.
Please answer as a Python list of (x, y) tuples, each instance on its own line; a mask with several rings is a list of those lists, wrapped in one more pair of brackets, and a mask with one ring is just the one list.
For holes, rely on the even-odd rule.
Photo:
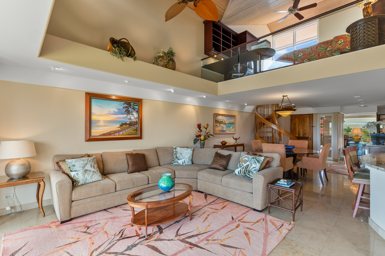
[[(90, 154), (96, 157), (104, 180), (75, 187), (67, 175), (61, 173), (56, 160), (82, 155), (55, 155), (50, 171), (52, 203), (61, 223), (72, 218), (102, 209), (127, 203), (127, 196), (141, 188), (157, 185), (162, 173), (171, 173), (177, 183), (187, 183), (193, 190), (213, 194), (229, 201), (243, 204), (257, 211), (267, 206), (267, 184), (281, 178), (280, 155), (271, 156), (269, 168), (259, 171), (253, 180), (234, 175), (241, 152), (219, 150), (218, 148), (194, 148), (192, 165), (171, 165), (173, 147), (159, 147), (149, 150), (127, 152), (103, 152)], [(215, 152), (231, 154), (226, 171), (209, 169)], [(142, 153), (146, 156), (148, 171), (127, 173), (126, 153)]]

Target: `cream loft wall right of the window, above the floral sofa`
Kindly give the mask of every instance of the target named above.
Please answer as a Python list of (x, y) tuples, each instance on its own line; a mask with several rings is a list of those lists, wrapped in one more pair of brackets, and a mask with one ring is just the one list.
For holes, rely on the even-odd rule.
[(333, 37), (338, 35), (347, 34), (346, 28), (356, 20), (362, 19), (362, 17), (362, 8), (353, 5), (340, 12), (335, 12), (320, 18), (318, 22), (318, 42), (333, 39)]

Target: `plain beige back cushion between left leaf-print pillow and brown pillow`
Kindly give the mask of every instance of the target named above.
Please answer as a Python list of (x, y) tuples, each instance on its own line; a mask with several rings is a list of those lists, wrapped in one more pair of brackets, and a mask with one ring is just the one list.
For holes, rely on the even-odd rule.
[(111, 173), (122, 173), (127, 172), (127, 158), (126, 154), (131, 154), (131, 151), (124, 152), (103, 152), (103, 165), (104, 175)]

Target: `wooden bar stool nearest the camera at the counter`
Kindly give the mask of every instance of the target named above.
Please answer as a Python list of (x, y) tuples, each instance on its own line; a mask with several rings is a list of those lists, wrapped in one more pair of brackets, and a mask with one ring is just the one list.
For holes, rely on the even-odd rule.
[(361, 200), (361, 199), (368, 199), (368, 200), (370, 200), (370, 197), (364, 196), (364, 195), (369, 195), (370, 196), (370, 193), (365, 193), (364, 192), (365, 191), (365, 186), (366, 185), (370, 185), (370, 174), (369, 173), (358, 173), (357, 172), (360, 169), (366, 169), (367, 171), (369, 171), (369, 169), (367, 169), (367, 168), (359, 168), (359, 169), (356, 169), (356, 172), (354, 172), (352, 161), (351, 161), (351, 157), (349, 155), (348, 150), (343, 149), (342, 153), (343, 153), (343, 157), (345, 158), (346, 168), (348, 169), (348, 173), (349, 173), (349, 176), (350, 176), (350, 181), (352, 183), (358, 183), (359, 184), (358, 190), (357, 190), (357, 194), (356, 194), (356, 198), (354, 199), (353, 207), (352, 207), (352, 209), (353, 209), (353, 218), (355, 218), (356, 214), (357, 214), (358, 208), (370, 210), (369, 207), (360, 206), (360, 203), (369, 204), (370, 205), (370, 203)]

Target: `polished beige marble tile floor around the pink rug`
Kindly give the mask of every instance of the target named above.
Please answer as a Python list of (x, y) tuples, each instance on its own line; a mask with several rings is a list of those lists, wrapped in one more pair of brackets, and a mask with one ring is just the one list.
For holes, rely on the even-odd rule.
[[(344, 162), (328, 161), (328, 168), (335, 164)], [(328, 178), (325, 186), (316, 171), (308, 170), (305, 178), (299, 178), (304, 182), (303, 211), (297, 211), (295, 226), (269, 256), (385, 256), (385, 239), (369, 226), (369, 211), (358, 209), (356, 218), (352, 217), (357, 186), (346, 175), (328, 173)], [(0, 234), (57, 219), (52, 205), (44, 206), (44, 211), (44, 218), (38, 208), (0, 216)], [(293, 223), (289, 211), (272, 207), (269, 215)]]

